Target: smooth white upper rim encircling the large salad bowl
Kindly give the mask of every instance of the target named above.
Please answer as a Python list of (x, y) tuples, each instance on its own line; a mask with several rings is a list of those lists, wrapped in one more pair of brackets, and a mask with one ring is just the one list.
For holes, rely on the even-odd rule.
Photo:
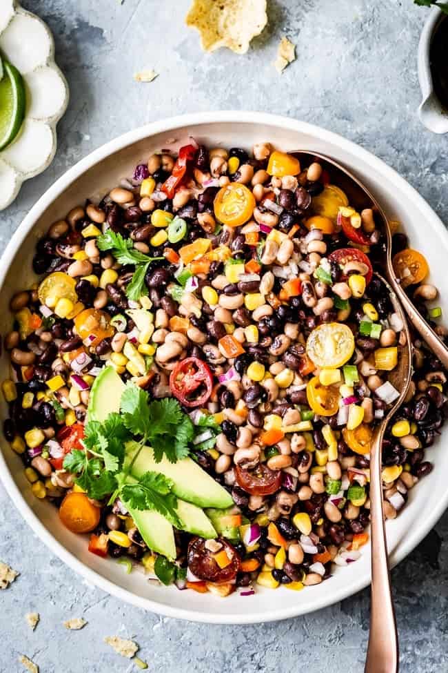
[[(425, 199), (420, 196), (414, 187), (412, 187), (403, 177), (401, 177), (394, 168), (387, 166), (382, 159), (379, 159), (374, 154), (370, 153), (368, 150), (360, 147), (358, 144), (352, 142), (351, 140), (345, 139), (343, 136), (338, 135), (332, 131), (316, 126), (315, 124), (309, 124), (305, 121), (298, 121), (292, 119), (291, 117), (284, 117), (281, 115), (272, 115), (269, 113), (256, 112), (256, 111), (241, 111), (241, 110), (222, 110), (214, 112), (205, 112), (205, 113), (190, 113), (187, 115), (176, 115), (175, 117), (169, 117), (167, 119), (153, 121), (150, 124), (145, 124), (134, 130), (130, 130), (118, 137), (112, 139), (110, 142), (96, 148), (90, 153), (87, 157), (84, 157), (77, 164), (69, 168), (59, 179), (57, 179), (50, 188), (39, 198), (36, 204), (32, 207), (28, 215), (23, 219), (19, 227), (12, 235), (6, 250), (1, 255), (0, 259), (0, 289), (3, 287), (3, 283), (6, 279), (6, 275), (9, 271), (10, 265), (12, 264), (14, 257), (19, 251), (21, 242), (25, 239), (26, 235), (32, 230), (35, 222), (39, 220), (39, 217), (43, 214), (46, 208), (54, 202), (55, 199), (60, 195), (61, 192), (65, 190), (73, 181), (77, 179), (80, 175), (85, 173), (86, 170), (100, 162), (102, 159), (105, 159), (109, 155), (125, 148), (130, 144), (139, 142), (147, 137), (156, 135), (158, 133), (165, 133), (168, 131), (176, 130), (177, 128), (182, 128), (185, 126), (201, 126), (202, 124), (248, 124), (250, 126), (272, 126), (277, 128), (282, 128), (283, 130), (289, 130), (296, 133), (306, 133), (309, 135), (314, 135), (318, 137), (321, 141), (329, 142), (329, 144), (334, 144), (338, 148), (347, 151), (351, 155), (357, 156), (360, 159), (363, 159), (369, 166), (378, 170), (382, 175), (389, 178), (391, 182), (398, 183), (400, 189), (412, 200), (418, 200), (421, 210), (425, 213), (427, 218), (431, 220), (434, 225), (434, 229), (438, 231), (440, 237), (448, 237), (447, 230), (442, 224), (440, 217), (432, 210), (429, 204)], [(3, 482), (3, 485), (8, 492), (12, 502), (19, 510), (21, 516), (26, 520), (28, 525), (32, 530), (39, 536), (39, 538), (45, 543), (45, 545), (52, 551), (54, 554), (57, 554), (63, 562), (68, 565), (75, 572), (81, 574), (86, 581), (92, 582), (94, 585), (103, 589), (103, 591), (120, 598), (121, 600), (131, 603), (136, 607), (141, 607), (151, 612), (157, 614), (162, 614), (167, 617), (181, 618), (188, 621), (196, 621), (203, 623), (214, 623), (214, 624), (254, 624), (267, 621), (279, 621), (282, 619), (287, 619), (290, 617), (298, 616), (300, 614), (306, 614), (310, 612), (309, 609), (303, 609), (301, 603), (297, 603), (293, 607), (281, 608), (281, 609), (267, 609), (260, 612), (245, 612), (244, 614), (237, 613), (228, 613), (228, 614), (213, 614), (212, 612), (199, 612), (196, 609), (191, 608), (182, 608), (182, 607), (172, 607), (164, 603), (158, 603), (150, 598), (144, 598), (143, 596), (138, 596), (128, 589), (119, 587), (114, 584), (112, 581), (108, 580), (101, 574), (95, 572), (93, 569), (90, 569), (88, 566), (79, 560), (74, 554), (68, 551), (61, 543), (58, 542), (56, 538), (52, 536), (50, 531), (45, 528), (39, 517), (34, 514), (31, 507), (26, 503), (24, 496), (21, 494), (21, 491), (14, 481), (8, 466), (6, 465), (6, 460), (3, 457), (3, 452), (0, 451), (0, 478)], [(400, 540), (400, 546), (398, 552), (394, 553), (392, 558), (392, 565), (396, 565), (403, 560), (407, 554), (409, 554), (427, 535), (429, 530), (437, 523), (440, 516), (442, 516), (445, 509), (448, 506), (448, 491), (446, 491), (445, 498), (441, 498), (438, 507), (435, 507), (433, 511), (422, 520), (419, 526), (414, 527), (411, 531), (407, 532), (407, 535), (404, 539)], [(329, 607), (342, 601), (348, 596), (352, 596), (359, 592), (361, 589), (364, 589), (369, 585), (369, 579), (359, 578), (354, 583), (349, 583), (347, 587), (340, 587), (331, 596), (323, 596), (316, 599), (316, 603), (313, 607), (313, 612), (315, 610), (321, 609), (323, 607)], [(247, 606), (249, 607), (249, 606)]]

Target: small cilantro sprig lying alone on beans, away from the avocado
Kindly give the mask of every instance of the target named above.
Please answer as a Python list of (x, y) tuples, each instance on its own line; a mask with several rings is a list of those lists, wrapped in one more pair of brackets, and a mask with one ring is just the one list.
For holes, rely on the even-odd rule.
[(136, 250), (132, 246), (132, 241), (123, 238), (121, 233), (116, 233), (108, 229), (96, 239), (96, 245), (100, 250), (110, 250), (119, 264), (132, 264), (135, 266), (135, 272), (132, 280), (126, 287), (126, 295), (134, 302), (138, 301), (143, 295), (147, 295), (148, 290), (145, 286), (145, 275), (151, 262), (154, 260), (163, 260), (163, 257), (150, 257)]

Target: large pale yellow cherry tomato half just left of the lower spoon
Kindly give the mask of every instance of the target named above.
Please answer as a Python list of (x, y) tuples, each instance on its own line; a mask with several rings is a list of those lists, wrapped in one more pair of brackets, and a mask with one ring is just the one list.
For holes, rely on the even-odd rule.
[(342, 322), (324, 322), (307, 339), (307, 355), (318, 367), (342, 367), (354, 349), (352, 330)]

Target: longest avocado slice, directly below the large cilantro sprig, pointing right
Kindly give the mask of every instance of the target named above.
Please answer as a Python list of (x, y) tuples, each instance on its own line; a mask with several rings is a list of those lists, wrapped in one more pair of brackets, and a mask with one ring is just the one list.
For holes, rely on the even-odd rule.
[[(127, 460), (132, 460), (132, 453), (128, 453)], [(132, 465), (131, 472), (134, 477), (139, 478), (147, 471), (161, 472), (170, 478), (174, 483), (174, 494), (198, 507), (225, 509), (234, 504), (232, 496), (221, 484), (191, 458), (170, 462), (163, 456), (161, 462), (156, 462), (152, 449), (143, 447)]]

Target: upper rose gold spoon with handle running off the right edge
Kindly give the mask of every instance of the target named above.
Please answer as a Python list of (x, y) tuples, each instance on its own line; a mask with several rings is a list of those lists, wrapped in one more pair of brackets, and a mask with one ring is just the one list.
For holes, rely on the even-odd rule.
[(387, 222), (387, 217), (385, 216), (385, 213), (383, 213), (383, 210), (376, 199), (357, 177), (350, 173), (347, 168), (341, 166), (338, 162), (335, 162), (334, 159), (308, 150), (298, 150), (291, 154), (301, 160), (302, 168), (308, 166), (317, 159), (318, 163), (329, 172), (329, 175), (331, 175), (332, 182), (347, 194), (350, 206), (353, 206), (358, 212), (363, 211), (364, 208), (371, 208), (374, 211), (376, 226), (385, 233), (386, 237), (386, 254), (384, 259), (380, 262), (385, 272), (385, 277), (403, 305), (403, 309), (405, 309), (407, 313), (409, 322), (411, 322), (416, 331), (420, 333), (422, 339), (425, 340), (431, 351), (440, 360), (443, 367), (448, 369), (448, 348), (442, 340), (440, 340), (434, 329), (432, 329), (426, 320), (422, 318), (422, 315), (417, 311), (396, 278), (391, 260), (392, 236), (389, 222)]

